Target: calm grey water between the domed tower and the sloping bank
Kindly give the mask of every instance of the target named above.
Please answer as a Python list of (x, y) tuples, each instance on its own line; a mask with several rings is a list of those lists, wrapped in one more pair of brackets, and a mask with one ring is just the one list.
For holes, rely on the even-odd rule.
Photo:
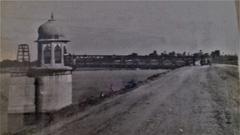
[(130, 80), (143, 81), (166, 70), (95, 70), (73, 72), (73, 103), (101, 91), (120, 90)]

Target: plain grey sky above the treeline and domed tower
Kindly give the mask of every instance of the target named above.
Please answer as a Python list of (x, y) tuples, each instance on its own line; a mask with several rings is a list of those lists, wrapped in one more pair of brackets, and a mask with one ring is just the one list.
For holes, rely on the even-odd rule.
[(18, 44), (36, 60), (38, 27), (51, 12), (73, 54), (238, 52), (234, 1), (38, 1), (1, 3), (1, 60)]

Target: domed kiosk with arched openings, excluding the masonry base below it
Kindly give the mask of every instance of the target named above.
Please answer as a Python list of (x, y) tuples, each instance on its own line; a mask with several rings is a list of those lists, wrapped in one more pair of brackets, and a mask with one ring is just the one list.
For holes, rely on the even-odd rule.
[(61, 27), (51, 18), (38, 28), (38, 66), (42, 68), (63, 68), (64, 48), (67, 40), (61, 31)]

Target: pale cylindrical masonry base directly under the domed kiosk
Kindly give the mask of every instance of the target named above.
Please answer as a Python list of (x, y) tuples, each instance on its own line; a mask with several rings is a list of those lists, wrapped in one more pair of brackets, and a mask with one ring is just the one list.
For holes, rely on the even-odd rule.
[(72, 74), (37, 77), (38, 109), (54, 112), (72, 104)]

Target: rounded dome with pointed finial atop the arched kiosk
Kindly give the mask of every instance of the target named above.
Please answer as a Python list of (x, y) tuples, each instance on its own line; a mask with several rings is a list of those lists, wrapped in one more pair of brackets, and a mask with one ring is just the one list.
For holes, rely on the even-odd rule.
[(51, 19), (38, 28), (38, 39), (60, 39), (64, 37), (56, 20), (51, 15)]

